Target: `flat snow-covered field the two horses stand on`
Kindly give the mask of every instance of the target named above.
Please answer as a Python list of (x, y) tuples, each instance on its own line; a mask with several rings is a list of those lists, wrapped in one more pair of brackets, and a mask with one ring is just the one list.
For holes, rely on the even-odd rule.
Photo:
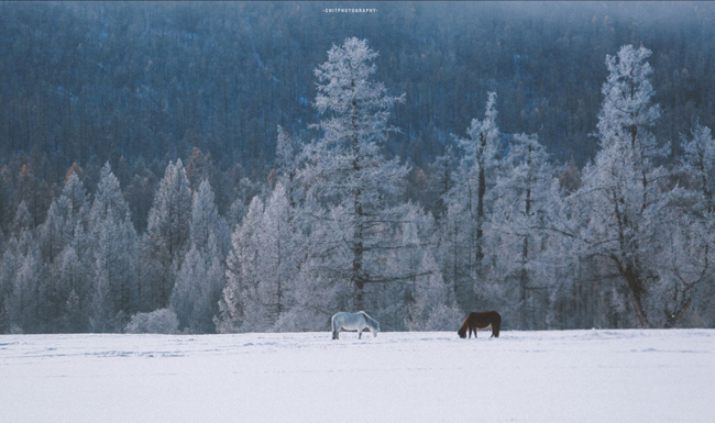
[(714, 422), (715, 331), (2, 335), (0, 422)]

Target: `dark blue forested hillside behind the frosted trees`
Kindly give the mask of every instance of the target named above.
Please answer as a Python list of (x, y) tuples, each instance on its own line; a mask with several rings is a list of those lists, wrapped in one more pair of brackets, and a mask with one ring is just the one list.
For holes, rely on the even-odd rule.
[[(0, 223), (29, 196), (15, 190), (52, 191), (75, 162), (97, 177), (109, 160), (138, 193), (148, 190), (135, 175), (156, 183), (194, 147), (224, 181), (264, 179), (278, 124), (315, 136), (306, 133), (316, 119), (312, 69), (348, 36), (369, 38), (382, 52), (385, 86), (406, 93), (394, 113), (403, 133), (391, 134), (387, 154), (422, 169), (487, 91), (499, 93), (505, 131), (538, 132), (557, 159), (582, 166), (596, 151), (588, 134), (603, 57), (624, 44), (656, 52), (656, 135), (673, 153), (693, 116), (713, 124), (710, 3), (370, 4), (378, 12), (324, 13), (336, 4), (304, 2), (1, 3)], [(18, 187), (24, 165), (36, 187)], [(220, 210), (235, 196), (219, 190)], [(145, 215), (138, 197), (128, 201)], [(35, 223), (48, 205), (33, 203)]]

